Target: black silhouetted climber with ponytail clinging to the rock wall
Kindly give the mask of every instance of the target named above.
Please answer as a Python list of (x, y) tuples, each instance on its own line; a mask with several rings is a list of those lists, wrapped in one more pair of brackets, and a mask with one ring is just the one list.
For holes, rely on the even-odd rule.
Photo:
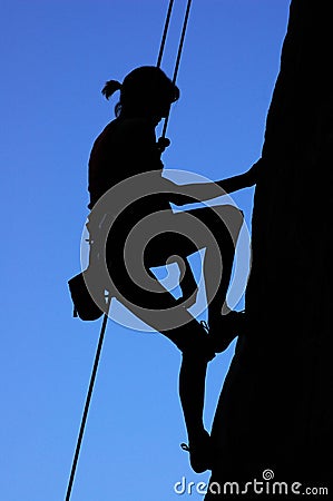
[[(95, 207), (115, 186), (126, 179), (135, 179), (135, 176), (139, 174), (151, 173), (151, 177), (148, 176), (147, 179), (154, 180), (156, 184), (154, 189), (141, 195), (136, 193), (134, 185), (130, 185), (134, 191), (129, 194), (129, 202), (121, 207), (121, 210), (119, 210), (119, 204), (121, 205), (123, 200), (116, 199), (117, 195), (115, 198), (112, 196), (107, 198), (107, 212), (115, 215), (106, 242), (107, 268), (115, 285), (110, 296), (118, 298), (183, 352), (179, 395), (188, 433), (190, 463), (195, 471), (200, 472), (209, 469), (209, 434), (203, 424), (207, 363), (215, 353), (224, 351), (239, 334), (244, 321), (242, 313), (229, 311), (225, 303), (235, 244), (243, 217), (241, 212), (231, 205), (214, 207), (214, 209), (204, 207), (173, 213), (169, 204), (179, 206), (198, 200), (204, 202), (221, 196), (222, 189), (231, 193), (252, 186), (256, 181), (259, 163), (243, 175), (218, 183), (177, 186), (163, 177), (164, 165), (160, 154), (164, 145), (161, 141), (156, 141), (155, 128), (161, 118), (167, 116), (170, 105), (179, 98), (178, 88), (159, 68), (140, 67), (127, 75), (123, 84), (116, 80), (107, 81), (102, 94), (108, 99), (117, 90), (120, 90), (120, 100), (115, 108), (116, 118), (98, 136), (90, 154), (90, 204), (88, 207), (94, 214)], [(156, 189), (156, 186), (160, 189)], [(154, 285), (153, 292), (131, 279), (128, 273), (130, 263), (126, 262), (124, 256), (129, 242), (128, 235), (151, 214), (160, 215), (160, 220), (166, 217), (168, 222), (175, 222), (175, 229), (172, 227), (169, 230), (159, 233), (159, 224), (156, 224), (158, 218), (154, 219), (157, 230), (143, 253), (143, 267)], [(184, 228), (187, 222), (192, 220), (190, 217), (214, 235), (223, 273), (219, 273), (221, 269), (214, 263), (215, 255), (210, 252), (210, 244), (205, 240), (204, 233), (198, 232), (193, 242), (177, 230), (177, 228)], [(96, 256), (100, 250), (97, 244), (98, 224), (99, 222), (94, 222), (94, 216), (89, 217), (88, 229), (92, 243), (89, 267), (92, 269), (95, 266), (98, 267)], [(136, 248), (130, 248), (130, 243), (128, 247), (129, 255), (135, 256)], [(197, 285), (186, 259), (200, 248), (206, 248), (204, 278), (208, 304), (208, 328), (198, 323), (187, 311), (195, 302)], [(155, 278), (150, 268), (169, 262), (179, 263), (179, 259), (185, 263), (180, 277), (183, 297), (176, 299)], [(160, 321), (164, 312), (167, 312), (166, 317), (172, 317), (175, 312), (175, 315), (178, 315), (176, 323), (168, 326), (165, 321)]]

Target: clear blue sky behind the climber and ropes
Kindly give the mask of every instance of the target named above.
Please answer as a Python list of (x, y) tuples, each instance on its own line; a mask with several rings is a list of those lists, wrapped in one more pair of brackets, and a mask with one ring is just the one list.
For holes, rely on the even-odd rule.
[[(261, 156), (288, 6), (193, 1), (167, 168), (222, 179)], [(169, 75), (184, 8), (175, 1)], [(71, 317), (67, 289), (80, 268), (89, 151), (114, 117), (100, 89), (156, 62), (166, 10), (165, 0), (1, 2), (0, 501), (65, 497), (100, 327)], [(234, 200), (251, 225), (253, 189)], [(209, 366), (208, 429), (232, 354)], [(179, 362), (160, 335), (109, 322), (72, 501), (169, 501), (183, 477), (207, 481), (179, 449)]]

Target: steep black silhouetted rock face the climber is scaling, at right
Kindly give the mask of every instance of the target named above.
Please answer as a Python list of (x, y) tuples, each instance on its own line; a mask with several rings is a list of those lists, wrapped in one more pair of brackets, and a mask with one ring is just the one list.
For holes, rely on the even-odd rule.
[(333, 478), (332, 11), (291, 2), (254, 199), (247, 328), (212, 432), (222, 485), (270, 469), (291, 495), (293, 482), (303, 492)]

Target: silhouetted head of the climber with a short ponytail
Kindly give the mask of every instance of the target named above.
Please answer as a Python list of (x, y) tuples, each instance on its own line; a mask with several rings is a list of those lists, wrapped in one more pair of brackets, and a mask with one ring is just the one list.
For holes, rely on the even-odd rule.
[(153, 118), (157, 121), (168, 115), (169, 107), (179, 98), (178, 87), (155, 66), (141, 66), (128, 73), (124, 82), (109, 80), (102, 94), (108, 99), (120, 90), (116, 116)]

